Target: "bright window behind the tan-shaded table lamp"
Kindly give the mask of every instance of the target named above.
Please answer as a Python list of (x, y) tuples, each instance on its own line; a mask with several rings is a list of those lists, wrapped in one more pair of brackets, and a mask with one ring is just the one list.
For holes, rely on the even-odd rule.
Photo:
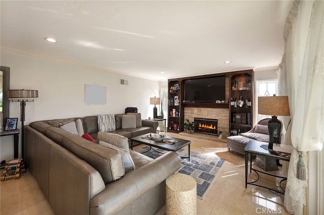
[(271, 116), (258, 114), (258, 97), (259, 96), (273, 96), (278, 94), (278, 80), (256, 81), (256, 99), (255, 99), (255, 113), (256, 122)]

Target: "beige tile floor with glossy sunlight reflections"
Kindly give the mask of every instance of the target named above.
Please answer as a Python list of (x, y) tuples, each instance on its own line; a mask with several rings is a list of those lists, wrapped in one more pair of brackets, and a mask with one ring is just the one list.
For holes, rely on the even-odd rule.
[[(191, 140), (193, 151), (226, 159), (206, 197), (203, 200), (197, 198), (197, 214), (289, 214), (284, 207), (284, 195), (253, 185), (245, 188), (244, 156), (228, 152), (226, 141), (206, 140), (194, 135), (168, 135)], [(249, 173), (249, 180), (255, 177), (255, 173)], [(276, 184), (275, 178), (266, 175), (262, 175), (259, 181), (272, 187)], [(0, 195), (0, 214), (54, 214), (28, 171), (20, 179), (2, 181)], [(165, 214), (165, 207), (156, 214)]]

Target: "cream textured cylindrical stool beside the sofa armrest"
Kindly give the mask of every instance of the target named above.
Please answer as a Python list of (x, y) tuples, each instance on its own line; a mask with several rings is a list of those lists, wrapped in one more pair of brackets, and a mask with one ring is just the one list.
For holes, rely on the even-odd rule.
[(191, 176), (176, 173), (167, 178), (166, 214), (196, 214), (197, 185)]

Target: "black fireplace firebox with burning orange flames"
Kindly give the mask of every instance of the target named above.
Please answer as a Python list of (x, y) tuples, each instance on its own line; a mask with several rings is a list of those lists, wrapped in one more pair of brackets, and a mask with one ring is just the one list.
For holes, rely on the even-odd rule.
[(218, 120), (194, 118), (194, 132), (217, 135)]

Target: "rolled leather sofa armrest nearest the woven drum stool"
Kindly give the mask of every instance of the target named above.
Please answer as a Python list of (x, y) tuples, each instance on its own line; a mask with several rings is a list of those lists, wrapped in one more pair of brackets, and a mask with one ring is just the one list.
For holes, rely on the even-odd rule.
[(90, 202), (91, 214), (116, 214), (178, 171), (180, 156), (169, 151), (141, 168), (108, 183)]

